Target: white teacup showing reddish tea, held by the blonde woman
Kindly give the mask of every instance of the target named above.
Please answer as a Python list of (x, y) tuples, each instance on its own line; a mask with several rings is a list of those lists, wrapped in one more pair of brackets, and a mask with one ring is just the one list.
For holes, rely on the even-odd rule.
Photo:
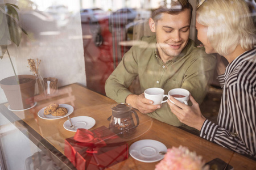
[[(174, 97), (176, 100), (179, 100), (181, 103), (188, 105), (190, 93), (184, 88), (174, 88), (168, 92), (168, 95)], [(174, 103), (174, 102), (171, 101), (171, 103)]]

